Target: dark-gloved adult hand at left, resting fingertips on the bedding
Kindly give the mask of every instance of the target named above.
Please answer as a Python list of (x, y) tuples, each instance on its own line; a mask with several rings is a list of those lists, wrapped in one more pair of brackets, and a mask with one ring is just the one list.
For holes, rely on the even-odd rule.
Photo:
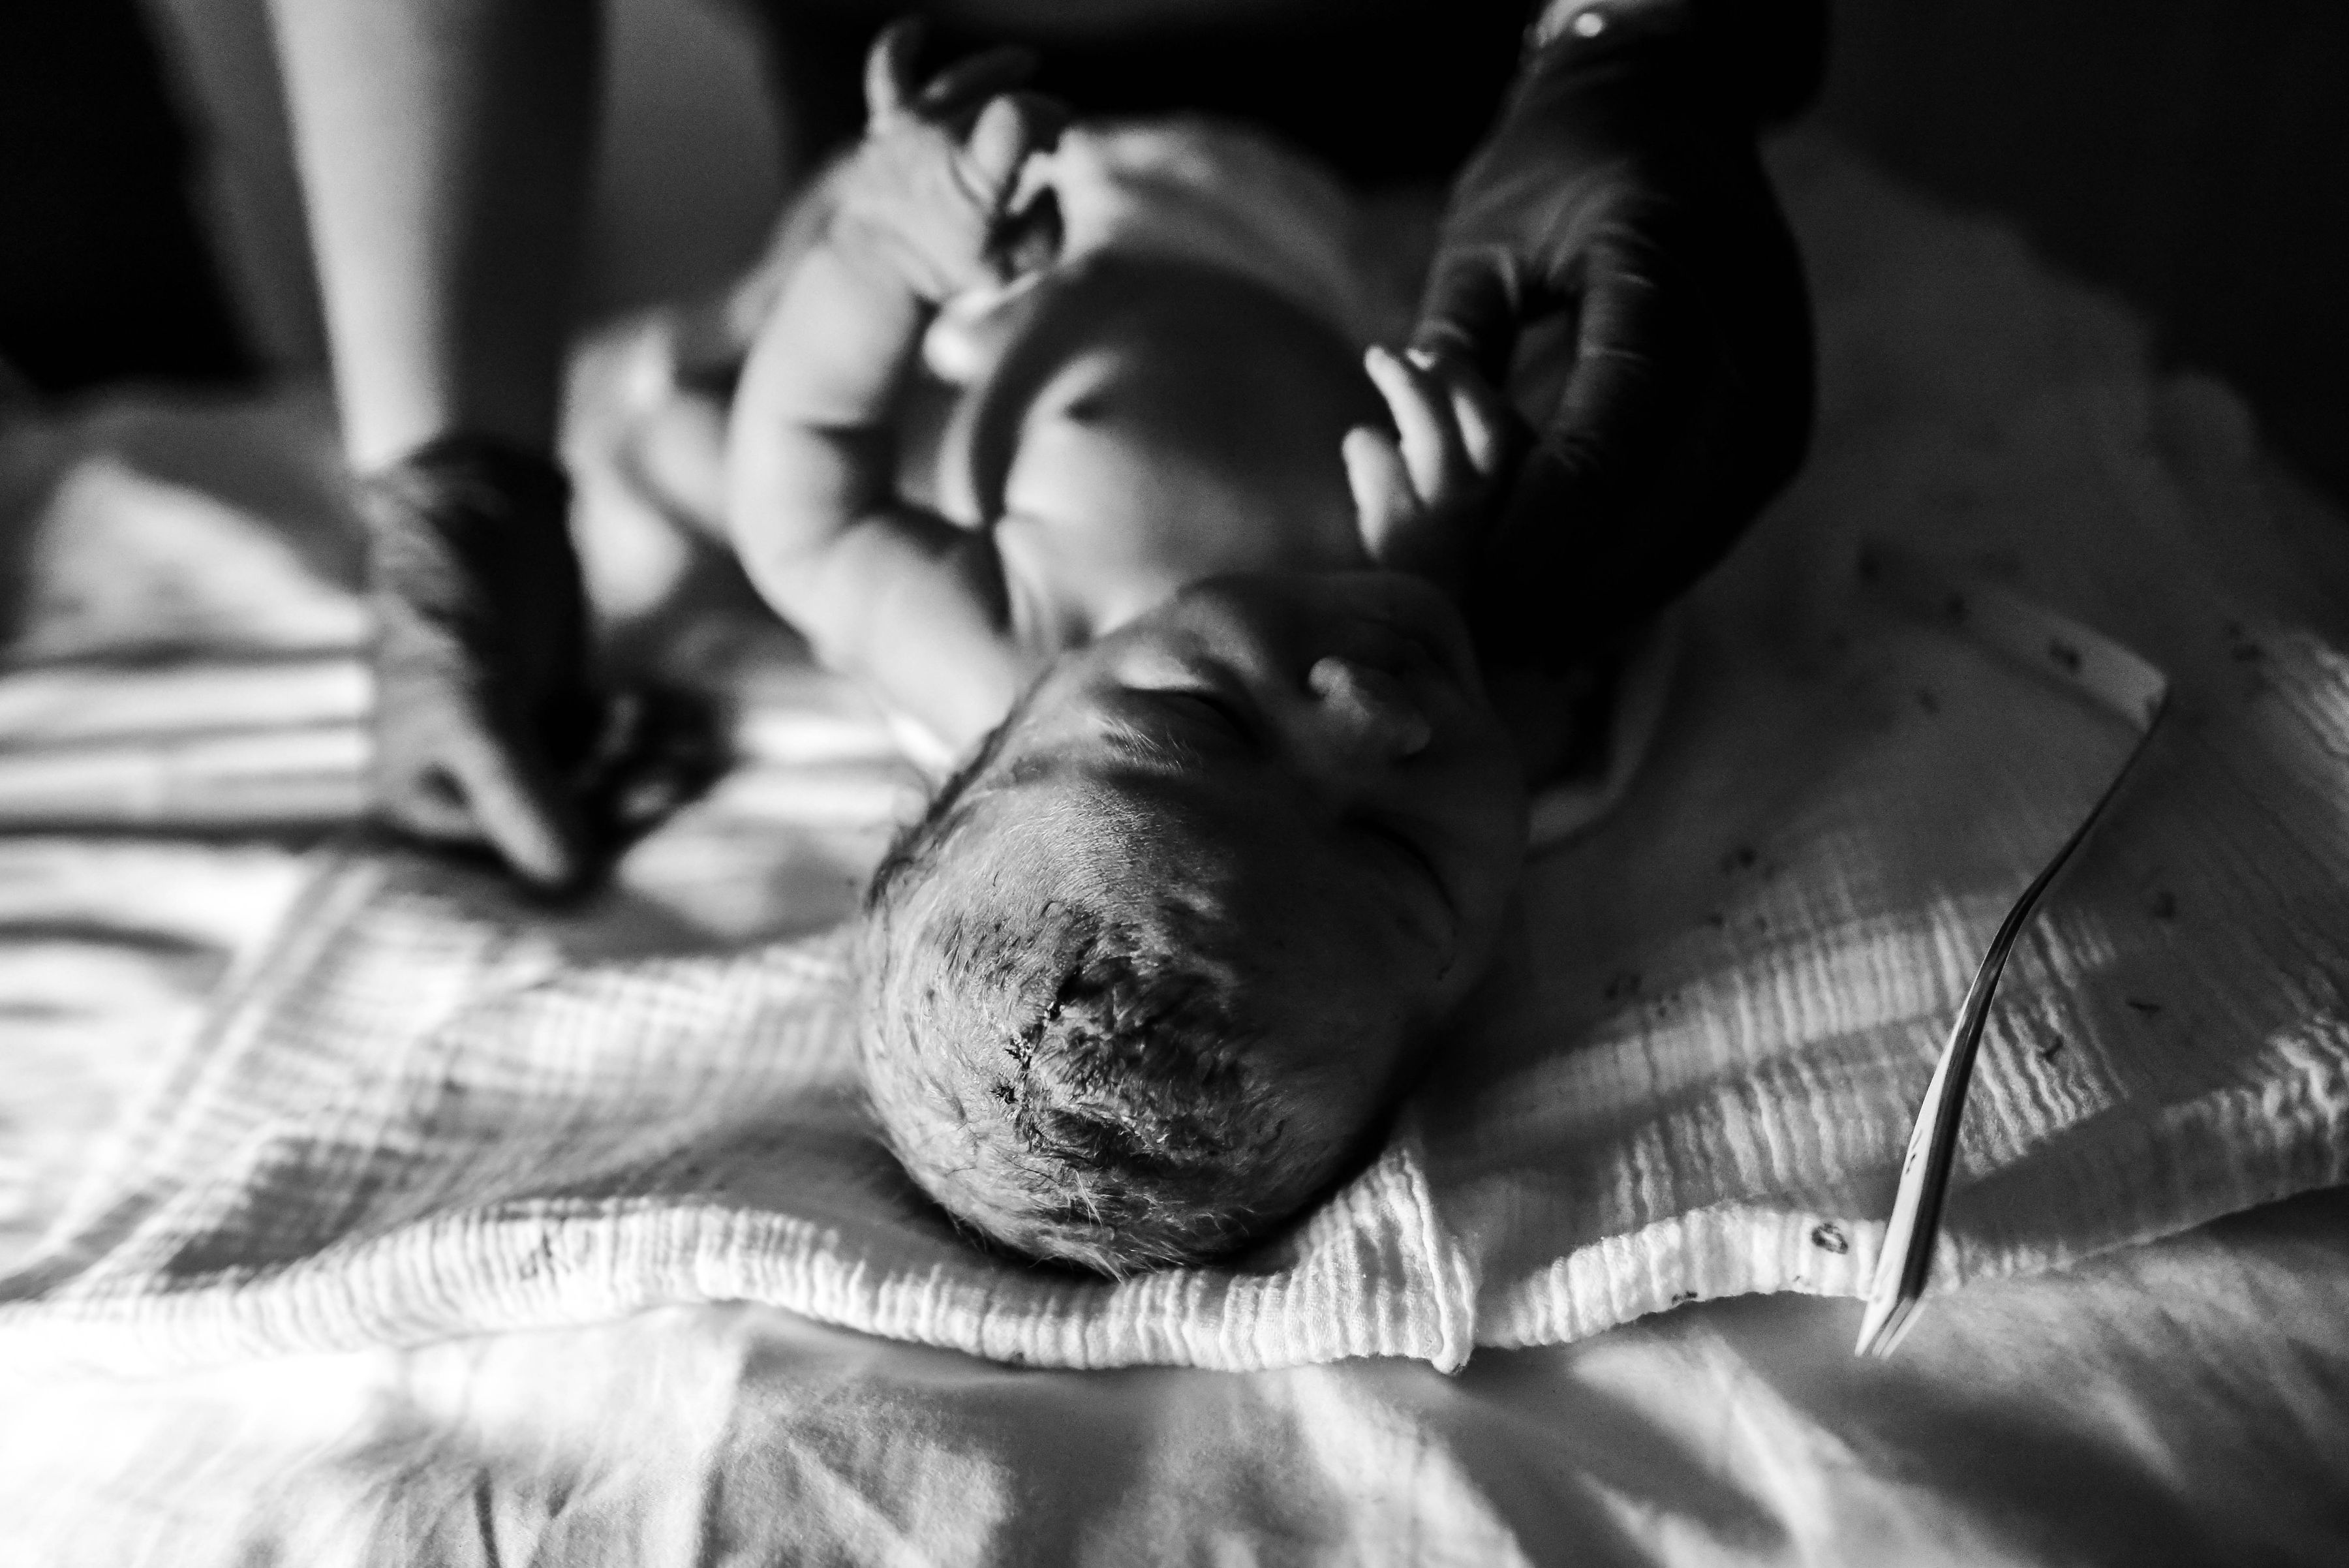
[(482, 437), (430, 441), (362, 486), (376, 810), (486, 845), (550, 894), (714, 763), (672, 707), (632, 702), (613, 725), (590, 688), (568, 502), (550, 460)]

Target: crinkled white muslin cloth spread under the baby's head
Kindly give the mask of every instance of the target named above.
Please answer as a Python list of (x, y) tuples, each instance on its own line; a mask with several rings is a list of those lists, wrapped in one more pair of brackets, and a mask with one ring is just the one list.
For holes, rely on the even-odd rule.
[(2175, 692), (2008, 969), (1936, 1286), (2349, 1178), (2340, 540), (2156, 455), (2173, 427), (2248, 437), (2154, 390), (2119, 317), (1985, 315), (2030, 265), (2008, 242), (1952, 258), (1849, 171), (1781, 171), (1865, 207), (1813, 251), (1811, 469), (1689, 606), (1640, 786), (1536, 861), (1478, 1016), (1294, 1235), (1125, 1284), (984, 1258), (867, 1127), (834, 937), (594, 958), (486, 885), (348, 857), (0, 1282), (0, 1354), (160, 1366), (759, 1298), (1064, 1366), (1459, 1366), (1689, 1298), (1860, 1293), (1947, 1014), (2128, 744), (1870, 608), (1863, 535), (2015, 582)]

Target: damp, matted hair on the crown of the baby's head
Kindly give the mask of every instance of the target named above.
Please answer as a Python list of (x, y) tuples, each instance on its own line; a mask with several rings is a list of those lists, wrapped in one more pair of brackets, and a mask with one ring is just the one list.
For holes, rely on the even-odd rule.
[(867, 1094), (904, 1169), (1001, 1246), (1113, 1277), (1229, 1253), (1360, 1150), (1334, 1068), (1362, 1023), (1266, 967), (1179, 812), (1005, 807), (1005, 730), (874, 873)]

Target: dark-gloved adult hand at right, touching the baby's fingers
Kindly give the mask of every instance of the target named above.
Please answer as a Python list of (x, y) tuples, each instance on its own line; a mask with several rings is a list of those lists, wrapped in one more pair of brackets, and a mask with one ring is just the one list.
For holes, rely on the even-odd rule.
[(1776, 63), (1689, 2), (1569, 28), (1454, 183), (1416, 345), (1508, 385), (1536, 434), (1461, 540), (1487, 660), (1562, 669), (1609, 646), (1802, 460), (1811, 315), (1755, 127), (1816, 82), (1823, 12), (1715, 9), (1738, 5), (1776, 21)]

